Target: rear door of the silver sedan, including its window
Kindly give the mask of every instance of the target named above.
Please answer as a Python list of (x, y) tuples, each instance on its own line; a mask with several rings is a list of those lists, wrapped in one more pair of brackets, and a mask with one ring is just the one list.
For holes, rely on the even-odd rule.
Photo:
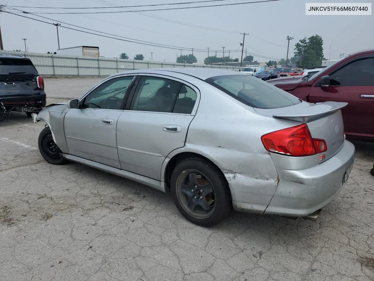
[(166, 156), (186, 141), (197, 92), (170, 77), (141, 77), (129, 110), (123, 111), (117, 123), (121, 169), (162, 180)]

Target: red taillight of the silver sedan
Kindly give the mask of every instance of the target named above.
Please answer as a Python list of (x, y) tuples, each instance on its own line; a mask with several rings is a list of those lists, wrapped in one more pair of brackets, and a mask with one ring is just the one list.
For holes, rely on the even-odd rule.
[(275, 131), (261, 137), (269, 152), (290, 156), (310, 156), (327, 151), (323, 139), (313, 139), (306, 124)]

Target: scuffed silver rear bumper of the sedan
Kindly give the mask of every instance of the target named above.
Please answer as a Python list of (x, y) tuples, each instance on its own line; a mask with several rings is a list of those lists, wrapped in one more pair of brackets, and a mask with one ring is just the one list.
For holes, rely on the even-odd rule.
[(355, 146), (345, 141), (337, 154), (317, 166), (277, 169), (279, 184), (264, 214), (304, 217), (321, 209), (343, 189), (354, 160)]

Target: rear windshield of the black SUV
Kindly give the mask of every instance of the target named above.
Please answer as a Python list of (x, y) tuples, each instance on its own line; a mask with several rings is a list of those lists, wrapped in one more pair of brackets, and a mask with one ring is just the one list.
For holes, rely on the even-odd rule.
[(36, 74), (31, 60), (20, 58), (0, 58), (0, 75)]

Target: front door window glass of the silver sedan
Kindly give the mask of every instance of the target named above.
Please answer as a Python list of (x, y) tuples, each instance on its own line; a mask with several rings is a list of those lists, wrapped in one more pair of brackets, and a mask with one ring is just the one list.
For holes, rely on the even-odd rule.
[(133, 79), (134, 76), (117, 77), (101, 84), (86, 96), (82, 108), (123, 110)]

